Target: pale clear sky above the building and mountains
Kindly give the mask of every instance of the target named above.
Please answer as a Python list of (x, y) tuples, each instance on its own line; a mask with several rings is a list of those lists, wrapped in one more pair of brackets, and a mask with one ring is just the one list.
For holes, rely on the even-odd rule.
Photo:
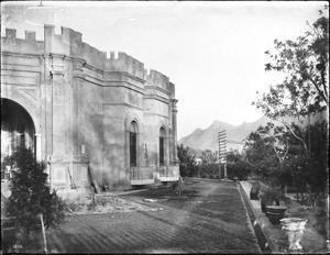
[(318, 19), (322, 1), (1, 2), (6, 27), (67, 26), (100, 51), (125, 52), (169, 77), (178, 99), (178, 140), (215, 120), (240, 125), (262, 112), (256, 91), (280, 79), (266, 73), (274, 40), (294, 40)]

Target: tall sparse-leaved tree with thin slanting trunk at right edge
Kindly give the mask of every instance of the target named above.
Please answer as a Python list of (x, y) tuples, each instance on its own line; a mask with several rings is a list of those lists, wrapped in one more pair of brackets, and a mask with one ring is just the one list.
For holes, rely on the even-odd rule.
[(310, 156), (310, 138), (306, 141), (302, 136), (309, 130), (311, 115), (327, 111), (329, 106), (328, 26), (329, 18), (320, 11), (320, 18), (305, 35), (295, 41), (274, 41), (275, 53), (265, 52), (271, 58), (265, 70), (280, 71), (286, 77), (282, 84), (271, 86), (268, 92), (258, 93), (253, 102), (266, 117), (292, 132), (306, 156)]

